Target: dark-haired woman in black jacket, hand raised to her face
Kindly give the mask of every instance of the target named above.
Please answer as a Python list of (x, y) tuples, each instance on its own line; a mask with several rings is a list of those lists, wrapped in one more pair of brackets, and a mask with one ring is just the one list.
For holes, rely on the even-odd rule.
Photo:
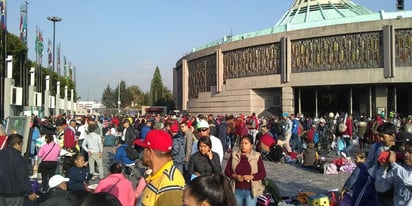
[(200, 137), (197, 142), (198, 152), (189, 161), (187, 173), (192, 176), (213, 175), (222, 172), (219, 155), (212, 151), (212, 141), (208, 137)]

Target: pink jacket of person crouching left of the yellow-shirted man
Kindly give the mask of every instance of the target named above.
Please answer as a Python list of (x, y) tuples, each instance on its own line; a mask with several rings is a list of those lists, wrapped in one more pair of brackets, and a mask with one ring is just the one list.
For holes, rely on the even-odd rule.
[(109, 192), (117, 197), (122, 206), (134, 206), (135, 194), (132, 183), (123, 174), (111, 174), (100, 180), (94, 193)]

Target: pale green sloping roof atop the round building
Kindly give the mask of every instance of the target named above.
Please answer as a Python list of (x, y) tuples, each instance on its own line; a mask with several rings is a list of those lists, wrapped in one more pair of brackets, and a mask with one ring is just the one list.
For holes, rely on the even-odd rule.
[(292, 7), (273, 27), (243, 34), (226, 35), (206, 45), (193, 48), (191, 52), (286, 31), (397, 18), (412, 18), (412, 10), (372, 12), (351, 0), (295, 0)]

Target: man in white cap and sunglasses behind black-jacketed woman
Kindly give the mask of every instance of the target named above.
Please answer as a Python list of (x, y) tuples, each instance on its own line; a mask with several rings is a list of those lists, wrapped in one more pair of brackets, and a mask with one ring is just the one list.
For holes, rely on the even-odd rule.
[[(196, 128), (199, 134), (199, 138), (200, 137), (210, 138), (210, 141), (212, 142), (212, 151), (216, 152), (219, 155), (220, 164), (222, 164), (223, 154), (224, 154), (222, 142), (220, 141), (219, 138), (213, 135), (210, 135), (209, 123), (207, 123), (206, 120), (200, 120), (197, 123)], [(196, 153), (197, 151), (199, 151), (199, 148), (197, 146), (197, 141), (195, 141), (193, 142), (193, 146), (192, 146), (192, 154)]]

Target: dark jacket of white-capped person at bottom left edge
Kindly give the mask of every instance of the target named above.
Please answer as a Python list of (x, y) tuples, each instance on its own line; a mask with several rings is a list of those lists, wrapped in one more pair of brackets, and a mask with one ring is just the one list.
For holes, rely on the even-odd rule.
[(39, 206), (77, 206), (79, 201), (69, 191), (64, 191), (60, 188), (52, 188), (46, 196), (46, 200), (41, 202)]

